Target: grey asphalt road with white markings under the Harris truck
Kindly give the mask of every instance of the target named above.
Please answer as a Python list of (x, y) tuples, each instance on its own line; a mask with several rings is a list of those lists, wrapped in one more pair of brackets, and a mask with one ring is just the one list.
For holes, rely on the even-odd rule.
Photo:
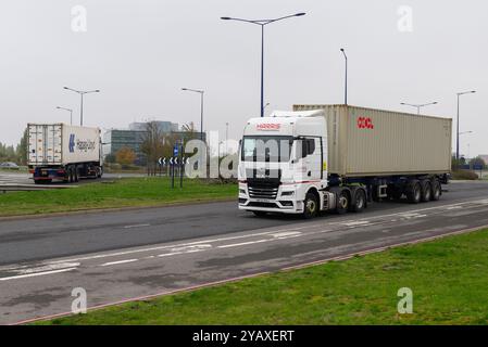
[(235, 203), (0, 221), (0, 323), (171, 293), (488, 224), (488, 183), (363, 214), (256, 218)]

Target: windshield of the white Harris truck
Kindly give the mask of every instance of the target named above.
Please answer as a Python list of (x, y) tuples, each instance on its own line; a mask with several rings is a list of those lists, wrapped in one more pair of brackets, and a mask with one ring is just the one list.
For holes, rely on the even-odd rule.
[(292, 137), (246, 136), (241, 160), (287, 163), (290, 159)]

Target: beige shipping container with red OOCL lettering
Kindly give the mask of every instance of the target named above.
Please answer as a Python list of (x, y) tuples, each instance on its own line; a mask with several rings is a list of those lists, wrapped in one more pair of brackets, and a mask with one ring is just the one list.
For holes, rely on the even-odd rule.
[(446, 174), (451, 170), (452, 119), (349, 105), (324, 110), (328, 172), (346, 177)]

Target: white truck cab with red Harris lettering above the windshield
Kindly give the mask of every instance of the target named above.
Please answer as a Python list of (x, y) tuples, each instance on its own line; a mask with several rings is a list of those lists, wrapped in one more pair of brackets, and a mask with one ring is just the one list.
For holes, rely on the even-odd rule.
[(250, 119), (240, 144), (238, 179), (239, 209), (305, 217), (328, 209), (324, 112), (274, 112)]

